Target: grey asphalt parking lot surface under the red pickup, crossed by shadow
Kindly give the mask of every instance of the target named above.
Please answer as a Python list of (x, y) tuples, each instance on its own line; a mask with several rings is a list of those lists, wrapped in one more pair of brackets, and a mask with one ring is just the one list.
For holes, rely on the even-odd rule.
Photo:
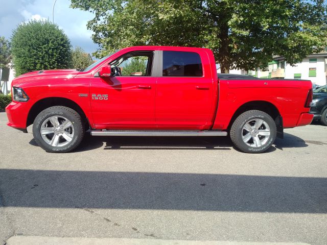
[(51, 154), (31, 127), (6, 121), (0, 113), (0, 244), (19, 235), (327, 244), (327, 127), (286, 129), (263, 154), (228, 137), (89, 135), (75, 152)]

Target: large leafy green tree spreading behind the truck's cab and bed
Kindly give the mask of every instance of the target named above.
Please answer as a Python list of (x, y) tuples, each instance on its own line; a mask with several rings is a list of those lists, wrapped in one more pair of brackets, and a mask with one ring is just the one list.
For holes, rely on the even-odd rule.
[(265, 67), (273, 55), (295, 64), (326, 46), (323, 0), (71, 0), (95, 14), (95, 54), (131, 45), (211, 48), (226, 73)]

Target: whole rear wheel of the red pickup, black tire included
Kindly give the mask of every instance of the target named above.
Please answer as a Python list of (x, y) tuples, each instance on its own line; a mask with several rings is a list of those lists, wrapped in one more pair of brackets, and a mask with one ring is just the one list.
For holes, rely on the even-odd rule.
[[(253, 127), (255, 121), (258, 121), (258, 123), (261, 122), (258, 119), (262, 119), (265, 123), (263, 122), (262, 126), (259, 127), (259, 129), (257, 129), (258, 131), (256, 131), (255, 128)], [(248, 131), (247, 129), (244, 129), (244, 127), (247, 128), (248, 126), (252, 126), (250, 130), (251, 132)], [(260, 132), (262, 132), (262, 134), (266, 133), (263, 131), (269, 131), (270, 135), (269, 136), (260, 135)], [(268, 115), (263, 111), (250, 110), (239, 115), (236, 118), (236, 120), (233, 122), (230, 128), (230, 139), (233, 142), (233, 144), (236, 146), (236, 148), (241, 150), (242, 152), (262, 153), (267, 149), (269, 149), (270, 146), (273, 144), (273, 142), (276, 139), (276, 133), (277, 133), (276, 124), (270, 115)], [(245, 142), (242, 136), (244, 136), (245, 138), (248, 137), (250, 138), (247, 142)], [(255, 139), (256, 140), (259, 139), (260, 142), (256, 141)], [(262, 145), (260, 145), (261, 143)], [(256, 146), (256, 145), (260, 145), (260, 146)]]

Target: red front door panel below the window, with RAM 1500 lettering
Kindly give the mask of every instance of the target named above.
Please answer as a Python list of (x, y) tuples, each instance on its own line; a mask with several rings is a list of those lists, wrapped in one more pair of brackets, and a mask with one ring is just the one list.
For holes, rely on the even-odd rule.
[[(154, 128), (155, 90), (154, 77), (91, 78), (90, 94), (96, 95), (91, 97), (96, 127)], [(108, 99), (104, 100), (106, 95)]]

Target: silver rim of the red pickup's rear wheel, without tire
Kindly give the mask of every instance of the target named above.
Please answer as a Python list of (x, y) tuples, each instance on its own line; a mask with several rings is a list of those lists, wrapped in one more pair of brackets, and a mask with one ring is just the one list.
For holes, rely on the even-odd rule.
[(267, 143), (270, 127), (263, 119), (251, 119), (242, 128), (242, 139), (251, 147), (260, 147)]

